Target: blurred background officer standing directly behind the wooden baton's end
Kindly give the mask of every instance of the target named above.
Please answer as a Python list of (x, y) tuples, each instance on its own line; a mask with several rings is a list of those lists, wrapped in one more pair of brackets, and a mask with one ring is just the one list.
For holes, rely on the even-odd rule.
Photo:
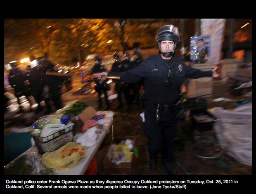
[[(99, 73), (99, 72), (107, 71), (104, 68), (104, 66), (101, 65), (101, 62), (102, 62), (102, 58), (101, 58), (100, 54), (97, 54), (95, 56), (95, 63), (94, 63), (94, 66), (92, 67), (91, 73)], [(98, 105), (97, 109), (100, 109), (102, 106), (102, 99), (101, 99), (102, 92), (104, 93), (105, 101), (107, 104), (107, 109), (109, 109), (110, 106), (109, 106), (109, 101), (107, 99), (107, 90), (109, 90), (109, 88), (107, 87), (106, 81), (105, 80), (99, 81), (96, 78), (94, 78), (93, 80), (95, 81), (94, 89), (98, 93), (98, 97), (99, 97), (99, 99), (98, 99), (99, 105)]]

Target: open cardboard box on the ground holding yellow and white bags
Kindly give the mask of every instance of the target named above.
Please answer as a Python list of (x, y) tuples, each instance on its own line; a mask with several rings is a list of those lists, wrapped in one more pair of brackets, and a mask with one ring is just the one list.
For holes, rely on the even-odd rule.
[(134, 175), (134, 154), (130, 162), (111, 162), (109, 159), (111, 158), (111, 154), (113, 154), (113, 147), (114, 144), (119, 144), (122, 140), (133, 140), (134, 147), (135, 147), (135, 137), (133, 136), (126, 136), (126, 137), (114, 137), (112, 144), (109, 147), (109, 151), (107, 156), (104, 157), (104, 175)]

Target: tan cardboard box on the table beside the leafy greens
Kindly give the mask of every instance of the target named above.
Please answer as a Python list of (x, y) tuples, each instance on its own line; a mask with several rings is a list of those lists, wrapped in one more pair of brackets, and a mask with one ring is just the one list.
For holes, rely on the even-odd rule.
[(85, 121), (92, 119), (92, 117), (96, 113), (97, 111), (92, 106), (88, 106), (78, 116), (73, 116), (71, 118), (71, 121), (74, 123), (74, 129), (75, 129), (74, 132), (75, 133), (81, 132)]

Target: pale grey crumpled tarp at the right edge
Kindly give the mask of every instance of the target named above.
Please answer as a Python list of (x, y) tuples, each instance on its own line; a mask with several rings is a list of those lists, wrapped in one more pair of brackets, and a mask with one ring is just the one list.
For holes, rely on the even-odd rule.
[(232, 110), (215, 107), (211, 114), (219, 119), (213, 127), (220, 146), (238, 162), (252, 166), (252, 104)]

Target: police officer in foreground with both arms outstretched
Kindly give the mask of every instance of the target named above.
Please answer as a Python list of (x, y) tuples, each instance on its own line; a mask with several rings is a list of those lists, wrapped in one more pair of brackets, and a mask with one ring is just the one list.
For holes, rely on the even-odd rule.
[[(176, 132), (175, 103), (180, 97), (180, 85), (185, 78), (201, 78), (216, 76), (214, 71), (194, 69), (174, 56), (175, 48), (180, 40), (178, 28), (165, 25), (159, 28), (156, 37), (159, 54), (145, 59), (138, 67), (124, 73), (98, 73), (102, 75), (120, 76), (121, 80), (135, 83), (142, 78), (144, 81), (145, 135), (148, 138), (149, 165), (152, 170), (157, 166), (157, 154), (162, 150), (163, 164), (167, 173), (173, 175), (173, 139)], [(161, 149), (162, 148), (162, 149)]]

